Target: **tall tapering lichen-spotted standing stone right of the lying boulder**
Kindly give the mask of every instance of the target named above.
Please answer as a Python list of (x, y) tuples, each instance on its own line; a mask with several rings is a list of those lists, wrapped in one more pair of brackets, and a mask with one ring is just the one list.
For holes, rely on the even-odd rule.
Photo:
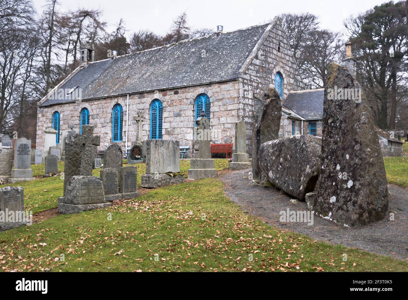
[(381, 220), (388, 209), (387, 178), (370, 108), (346, 68), (329, 64), (327, 82), (313, 209), (344, 226)]

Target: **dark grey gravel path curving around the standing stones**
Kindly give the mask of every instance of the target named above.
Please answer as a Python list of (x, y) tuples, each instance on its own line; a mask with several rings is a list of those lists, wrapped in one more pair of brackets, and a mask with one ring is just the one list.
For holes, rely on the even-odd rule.
[[(314, 216), (313, 225), (306, 222), (280, 222), (279, 212), (307, 211), (306, 202), (292, 204), (293, 197), (275, 187), (251, 187), (248, 185), (248, 170), (228, 172), (220, 175), (224, 182), (226, 196), (241, 205), (245, 211), (257, 216), (270, 226), (303, 233), (316, 240), (364, 251), (408, 259), (408, 191), (393, 184), (388, 184), (388, 216), (370, 225), (346, 228), (333, 222)], [(395, 214), (390, 221), (389, 213)]]

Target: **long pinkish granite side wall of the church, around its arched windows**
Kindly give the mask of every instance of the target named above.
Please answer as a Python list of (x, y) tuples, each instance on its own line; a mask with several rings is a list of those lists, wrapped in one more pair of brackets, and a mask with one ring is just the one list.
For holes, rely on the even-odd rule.
[[(150, 134), (150, 105), (154, 99), (163, 104), (163, 139), (180, 140), (180, 146), (190, 146), (194, 139), (195, 98), (206, 93), (211, 101), (210, 124), (213, 143), (232, 143), (235, 134), (235, 122), (238, 122), (238, 81), (219, 82), (195, 87), (183, 87), (156, 92), (129, 95), (129, 136), (128, 147), (136, 141), (137, 112), (142, 112), (146, 121), (143, 123), (143, 139)], [(84, 100), (81, 103), (67, 103), (50, 107), (38, 107), (37, 149), (44, 150), (44, 130), (52, 127), (52, 115), (60, 113), (60, 131), (65, 136), (69, 125), (80, 131), (80, 111), (89, 110), (90, 125), (94, 134), (101, 136), (98, 149), (106, 149), (112, 143), (112, 108), (116, 103), (123, 108), (123, 140), (117, 144), (125, 149), (126, 141), (126, 96), (109, 97), (96, 100)], [(47, 150), (48, 151), (48, 150)]]

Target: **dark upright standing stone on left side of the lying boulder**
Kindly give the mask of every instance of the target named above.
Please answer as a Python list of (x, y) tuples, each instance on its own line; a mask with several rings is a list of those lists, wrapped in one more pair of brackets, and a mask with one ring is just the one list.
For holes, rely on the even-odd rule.
[(281, 117), (282, 105), (279, 94), (273, 87), (270, 87), (255, 113), (252, 128), (252, 176), (254, 179), (259, 180), (262, 172), (258, 159), (259, 146), (278, 138)]

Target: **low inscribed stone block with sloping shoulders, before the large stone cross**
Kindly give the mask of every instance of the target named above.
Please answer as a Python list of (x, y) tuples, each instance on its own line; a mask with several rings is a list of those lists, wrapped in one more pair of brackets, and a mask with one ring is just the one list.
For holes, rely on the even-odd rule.
[[(77, 138), (75, 136), (75, 141)], [(73, 176), (64, 197), (58, 199), (59, 213), (80, 213), (110, 206), (112, 204), (105, 200), (102, 180), (95, 176)]]

